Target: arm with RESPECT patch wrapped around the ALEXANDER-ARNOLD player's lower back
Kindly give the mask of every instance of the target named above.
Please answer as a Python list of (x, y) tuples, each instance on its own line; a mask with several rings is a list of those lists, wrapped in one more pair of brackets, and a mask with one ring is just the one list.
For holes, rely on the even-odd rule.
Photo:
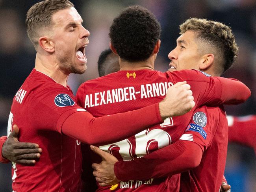
[[(204, 112), (201, 114), (202, 119), (209, 118), (206, 107), (203, 106), (197, 111)], [(218, 113), (218, 110), (214, 112)], [(93, 148), (93, 151), (104, 154), (104, 160), (100, 164), (93, 164), (96, 180), (100, 185), (113, 185), (117, 181), (165, 177), (197, 167), (204, 150), (208, 148), (215, 134), (213, 123), (207, 121), (197, 123), (195, 124), (192, 118), (182, 137), (174, 144), (132, 161), (117, 162), (117, 159), (110, 154), (103, 153), (104, 151), (96, 147)], [(200, 126), (201, 124), (203, 127)]]

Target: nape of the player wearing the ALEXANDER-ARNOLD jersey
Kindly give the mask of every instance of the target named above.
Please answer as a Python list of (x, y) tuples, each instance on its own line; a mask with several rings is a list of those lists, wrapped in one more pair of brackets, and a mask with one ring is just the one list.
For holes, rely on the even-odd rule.
[(121, 59), (119, 57), (120, 70), (141, 70), (141, 69), (154, 70), (154, 61), (155, 61), (155, 58), (152, 56), (145, 61), (139, 61), (139, 62), (130, 62), (130, 61)]

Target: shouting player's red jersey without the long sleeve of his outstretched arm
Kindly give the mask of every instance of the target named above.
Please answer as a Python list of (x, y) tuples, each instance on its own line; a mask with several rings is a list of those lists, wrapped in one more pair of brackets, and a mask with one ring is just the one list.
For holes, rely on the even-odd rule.
[(80, 142), (62, 135), (57, 127), (79, 109), (69, 88), (32, 70), (13, 99), (8, 132), (17, 124), (19, 141), (37, 143), (43, 152), (32, 166), (12, 162), (13, 191), (79, 191)]

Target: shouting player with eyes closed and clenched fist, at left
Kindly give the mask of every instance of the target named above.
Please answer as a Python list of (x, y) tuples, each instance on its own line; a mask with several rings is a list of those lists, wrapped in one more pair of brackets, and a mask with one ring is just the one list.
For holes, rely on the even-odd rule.
[[(13, 99), (8, 132), (20, 128), (20, 141), (37, 143), (43, 150), (32, 166), (12, 162), (13, 191), (80, 190), (80, 143), (115, 142), (173, 114), (194, 106), (190, 86), (174, 85), (163, 102), (132, 112), (94, 118), (76, 104), (67, 85), (70, 73), (86, 70), (85, 47), (89, 43), (82, 18), (68, 0), (46, 0), (27, 13), (28, 36), (37, 51), (35, 68)], [(181, 95), (179, 95), (181, 94)], [(175, 107), (183, 101), (185, 108)], [(171, 107), (171, 105), (173, 105)], [(174, 109), (175, 108), (175, 109)], [(119, 133), (120, 127), (122, 128)]]

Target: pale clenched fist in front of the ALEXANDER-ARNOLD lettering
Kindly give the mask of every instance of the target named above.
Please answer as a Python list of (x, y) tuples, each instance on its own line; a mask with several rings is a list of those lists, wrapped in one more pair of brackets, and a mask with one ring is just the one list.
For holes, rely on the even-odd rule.
[(186, 81), (169, 87), (166, 97), (159, 103), (160, 115), (163, 119), (189, 112), (194, 106), (194, 97), (190, 85)]

